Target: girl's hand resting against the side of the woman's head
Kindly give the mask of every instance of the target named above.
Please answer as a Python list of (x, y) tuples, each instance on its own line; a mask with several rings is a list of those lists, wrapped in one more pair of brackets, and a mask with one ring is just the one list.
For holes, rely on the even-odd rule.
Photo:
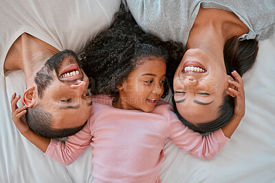
[(235, 89), (229, 88), (230, 93), (234, 93), (235, 97), (235, 108), (234, 117), (243, 118), (245, 115), (245, 90), (243, 87), (243, 79), (236, 71), (232, 72), (236, 81), (228, 81), (230, 84), (235, 86)]

